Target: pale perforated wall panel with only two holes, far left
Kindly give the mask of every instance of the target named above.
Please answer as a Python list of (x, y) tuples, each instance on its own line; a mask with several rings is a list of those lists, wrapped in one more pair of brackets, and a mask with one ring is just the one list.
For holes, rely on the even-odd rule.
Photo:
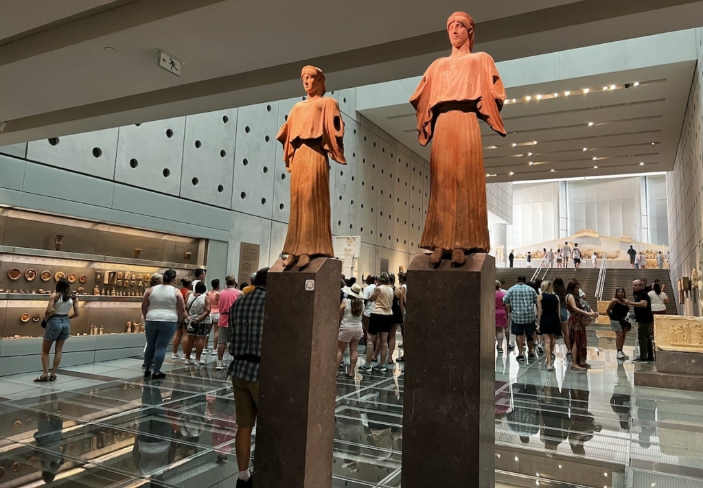
[(117, 129), (41, 139), (27, 145), (28, 160), (105, 179), (115, 175), (116, 153)]

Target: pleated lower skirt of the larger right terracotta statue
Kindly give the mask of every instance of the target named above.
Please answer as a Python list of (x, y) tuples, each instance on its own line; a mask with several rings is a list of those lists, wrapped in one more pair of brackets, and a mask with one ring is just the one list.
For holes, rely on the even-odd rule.
[(441, 112), (430, 153), (430, 203), (420, 248), (489, 252), (486, 172), (476, 114)]

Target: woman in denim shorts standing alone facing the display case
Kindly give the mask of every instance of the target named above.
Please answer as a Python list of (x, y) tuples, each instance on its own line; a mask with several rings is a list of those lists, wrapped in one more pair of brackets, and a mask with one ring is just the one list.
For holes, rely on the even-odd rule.
[[(73, 315), (69, 314), (73, 310)], [(61, 362), (63, 353), (63, 343), (70, 335), (69, 319), (79, 316), (78, 299), (71, 293), (71, 283), (66, 278), (61, 278), (56, 283), (56, 293), (52, 293), (49, 304), (46, 306), (46, 330), (44, 330), (44, 342), (41, 343), (41, 376), (34, 378), (37, 383), (46, 381), (56, 381), (56, 370)], [(49, 373), (49, 353), (51, 345), (56, 342), (53, 351), (53, 366)]]

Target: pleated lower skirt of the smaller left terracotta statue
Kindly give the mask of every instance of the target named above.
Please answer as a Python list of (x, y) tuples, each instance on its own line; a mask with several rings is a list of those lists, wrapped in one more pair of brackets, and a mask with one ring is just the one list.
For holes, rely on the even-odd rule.
[(290, 164), (290, 219), (283, 254), (333, 257), (331, 218), (327, 155), (319, 146), (302, 143)]

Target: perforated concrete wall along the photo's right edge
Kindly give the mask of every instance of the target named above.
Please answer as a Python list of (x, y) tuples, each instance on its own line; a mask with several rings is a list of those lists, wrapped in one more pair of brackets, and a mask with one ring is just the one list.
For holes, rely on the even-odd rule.
[[(671, 281), (701, 272), (703, 260), (703, 29), (697, 30), (698, 65), (678, 143), (676, 163), (666, 177), (671, 245)], [(682, 314), (700, 315), (700, 301), (678, 305)]]

